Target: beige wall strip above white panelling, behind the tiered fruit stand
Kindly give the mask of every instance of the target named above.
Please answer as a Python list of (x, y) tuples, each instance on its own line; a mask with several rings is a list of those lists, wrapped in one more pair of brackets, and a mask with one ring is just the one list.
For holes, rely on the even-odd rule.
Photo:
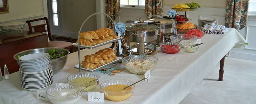
[(164, 5), (175, 5), (180, 3), (199, 3), (202, 7), (225, 8), (226, 0), (163, 0)]

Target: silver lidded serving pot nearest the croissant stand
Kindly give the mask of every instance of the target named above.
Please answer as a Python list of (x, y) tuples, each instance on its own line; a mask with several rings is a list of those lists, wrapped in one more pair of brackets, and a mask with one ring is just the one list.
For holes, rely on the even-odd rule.
[(159, 29), (160, 28), (155, 25), (129, 25), (125, 27), (125, 36), (126, 39), (131, 42), (152, 42), (157, 40)]

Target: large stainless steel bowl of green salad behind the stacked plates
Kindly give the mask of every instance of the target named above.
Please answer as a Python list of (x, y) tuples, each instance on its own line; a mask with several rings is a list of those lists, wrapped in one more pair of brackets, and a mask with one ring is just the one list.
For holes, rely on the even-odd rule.
[(32, 54), (32, 53), (44, 53), (50, 50), (55, 49), (56, 52), (61, 53), (64, 52), (65, 56), (55, 58), (51, 60), (51, 65), (52, 65), (52, 70), (53, 74), (58, 73), (61, 71), (61, 69), (65, 66), (67, 62), (67, 55), (70, 53), (67, 49), (64, 48), (57, 48), (57, 47), (45, 47), (45, 48), (36, 48), (36, 49), (30, 49), (26, 51), (19, 52), (13, 56), (13, 58), (17, 61), (17, 64), (20, 67), (20, 61), (18, 59), (18, 55), (27, 55), (27, 54)]

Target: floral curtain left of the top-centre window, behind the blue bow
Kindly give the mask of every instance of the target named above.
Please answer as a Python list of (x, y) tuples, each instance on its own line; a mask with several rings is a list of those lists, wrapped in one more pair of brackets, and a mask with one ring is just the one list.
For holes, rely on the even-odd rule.
[[(107, 14), (114, 20), (120, 14), (120, 1), (119, 0), (106, 0)], [(108, 28), (112, 29), (112, 22), (107, 18)]]

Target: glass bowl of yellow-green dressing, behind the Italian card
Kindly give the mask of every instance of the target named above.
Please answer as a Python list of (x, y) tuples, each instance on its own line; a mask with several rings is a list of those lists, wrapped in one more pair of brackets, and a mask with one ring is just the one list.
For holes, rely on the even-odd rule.
[(99, 78), (99, 74), (92, 72), (82, 72), (69, 75), (67, 77), (67, 80), (68, 83), (81, 85), (83, 89), (89, 85), (89, 87), (83, 90), (83, 92), (86, 92), (93, 90), (97, 85), (99, 85)]

